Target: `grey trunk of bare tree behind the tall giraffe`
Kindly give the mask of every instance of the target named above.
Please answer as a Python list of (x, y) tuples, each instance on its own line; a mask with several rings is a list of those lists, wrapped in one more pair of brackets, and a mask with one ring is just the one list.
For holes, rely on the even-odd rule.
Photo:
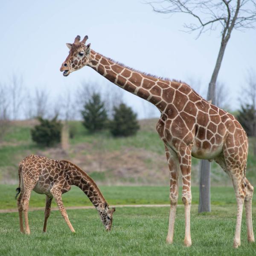
[[(224, 56), (227, 42), (221, 41), (221, 48), (218, 53), (218, 58), (215, 64), (215, 68), (212, 73), (212, 78), (209, 83), (207, 100), (212, 101), (215, 104), (215, 87), (219, 70), (221, 68), (221, 61)], [(199, 170), (200, 182), (199, 182), (199, 205), (198, 212), (210, 212), (211, 211), (211, 164), (208, 160), (201, 160)]]

